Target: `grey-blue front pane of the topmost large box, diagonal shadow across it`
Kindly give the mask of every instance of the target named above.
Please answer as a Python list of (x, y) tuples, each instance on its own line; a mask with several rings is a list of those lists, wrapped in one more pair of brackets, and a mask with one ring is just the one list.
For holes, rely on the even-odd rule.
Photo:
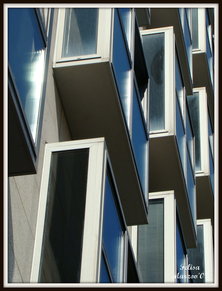
[(62, 57), (96, 54), (99, 8), (66, 8)]

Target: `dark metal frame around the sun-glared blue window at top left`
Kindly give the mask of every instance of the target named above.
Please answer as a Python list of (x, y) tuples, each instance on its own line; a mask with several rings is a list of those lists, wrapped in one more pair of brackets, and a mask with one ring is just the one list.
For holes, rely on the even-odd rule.
[[(12, 9), (12, 7), (9, 7)], [(50, 53), (50, 45), (51, 45), (51, 33), (52, 33), (52, 22), (54, 16), (54, 8), (49, 8), (47, 13), (47, 22), (44, 22), (42, 19), (42, 13), (40, 8), (33, 8), (34, 14), (36, 16), (37, 25), (39, 28), (40, 36), (45, 46), (45, 56), (44, 56), (44, 66), (42, 70), (42, 83), (41, 83), (41, 92), (40, 92), (40, 101), (39, 101), (39, 109), (38, 109), (38, 121), (37, 128), (35, 133), (35, 140), (33, 139), (33, 135), (31, 133), (31, 129), (26, 117), (25, 109), (23, 108), (22, 101), (19, 95), (19, 91), (17, 89), (17, 85), (15, 84), (13, 71), (10, 67), (10, 63), (8, 61), (8, 90), (10, 91), (10, 95), (12, 101), (10, 101), (12, 106), (15, 107), (13, 109), (19, 120), (19, 126), (22, 128), (23, 136), (22, 139), (25, 139), (25, 143), (27, 143), (28, 152), (26, 154), (30, 157), (30, 166), (32, 168), (31, 172), (26, 173), (8, 173), (8, 176), (17, 176), (17, 175), (28, 175), (28, 174), (36, 174), (38, 167), (38, 156), (40, 150), (40, 140), (41, 140), (41, 131), (42, 131), (42, 122), (43, 122), (43, 111), (45, 104), (45, 93), (46, 93), (46, 83), (47, 83), (47, 74), (48, 74), (48, 66), (49, 66), (49, 53)], [(46, 25), (46, 26), (45, 26)], [(9, 95), (9, 94), (8, 94)]]

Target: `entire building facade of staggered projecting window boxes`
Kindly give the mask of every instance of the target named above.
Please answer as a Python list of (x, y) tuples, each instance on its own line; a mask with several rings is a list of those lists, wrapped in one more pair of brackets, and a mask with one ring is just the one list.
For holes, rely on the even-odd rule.
[(6, 13), (8, 283), (214, 283), (214, 8)]

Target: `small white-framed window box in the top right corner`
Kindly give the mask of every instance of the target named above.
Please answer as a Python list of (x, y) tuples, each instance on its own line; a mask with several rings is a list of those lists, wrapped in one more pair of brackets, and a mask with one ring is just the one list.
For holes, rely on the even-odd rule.
[(214, 41), (207, 8), (192, 8), (193, 88), (206, 87), (214, 127)]

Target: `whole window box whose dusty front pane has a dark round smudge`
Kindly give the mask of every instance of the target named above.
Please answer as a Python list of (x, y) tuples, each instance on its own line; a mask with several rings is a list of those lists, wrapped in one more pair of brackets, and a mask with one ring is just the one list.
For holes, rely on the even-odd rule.
[(174, 189), (186, 245), (196, 245), (194, 138), (173, 27), (141, 31), (150, 77), (149, 192)]

